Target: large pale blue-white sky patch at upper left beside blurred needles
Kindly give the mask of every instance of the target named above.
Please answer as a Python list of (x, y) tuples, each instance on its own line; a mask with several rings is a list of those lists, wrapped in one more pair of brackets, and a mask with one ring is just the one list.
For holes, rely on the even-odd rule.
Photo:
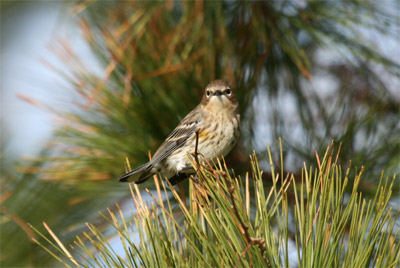
[(68, 40), (84, 62), (99, 69), (74, 19), (59, 2), (15, 5), (2, 13), (1, 130), (5, 154), (12, 158), (37, 154), (56, 125), (45, 108), (21, 96), (57, 107), (71, 98), (69, 85), (44, 63), (66, 68), (52, 52), (55, 40)]

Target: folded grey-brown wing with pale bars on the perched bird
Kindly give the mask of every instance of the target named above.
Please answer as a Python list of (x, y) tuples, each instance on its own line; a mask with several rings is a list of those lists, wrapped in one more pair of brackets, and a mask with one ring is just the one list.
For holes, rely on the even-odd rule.
[(165, 139), (164, 143), (161, 144), (153, 156), (152, 162), (154, 164), (163, 161), (194, 134), (202, 120), (200, 109), (198, 106), (191, 111)]

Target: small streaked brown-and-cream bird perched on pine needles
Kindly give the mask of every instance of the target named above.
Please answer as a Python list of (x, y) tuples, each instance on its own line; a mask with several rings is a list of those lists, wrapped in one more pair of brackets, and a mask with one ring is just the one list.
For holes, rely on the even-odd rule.
[(172, 131), (150, 162), (122, 175), (120, 182), (142, 183), (156, 173), (172, 185), (186, 179), (193, 168), (188, 158), (196, 146), (207, 160), (225, 156), (240, 135), (240, 115), (233, 90), (223, 80), (207, 85), (201, 103)]

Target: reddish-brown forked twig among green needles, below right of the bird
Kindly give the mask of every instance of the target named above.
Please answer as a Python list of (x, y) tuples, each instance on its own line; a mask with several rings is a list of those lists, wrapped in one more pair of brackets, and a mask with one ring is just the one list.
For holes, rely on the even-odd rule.
[[(236, 261), (235, 267), (237, 267), (238, 262), (244, 256), (244, 254), (250, 249), (250, 246), (257, 245), (258, 248), (261, 250), (262, 255), (264, 255), (264, 252), (267, 250), (267, 247), (265, 245), (264, 238), (254, 238), (254, 237), (250, 236), (249, 231), (248, 231), (249, 227), (246, 224), (244, 224), (242, 218), (239, 215), (239, 211), (236, 207), (235, 198), (233, 196), (234, 191), (235, 191), (235, 188), (233, 186), (231, 186), (229, 188), (229, 195), (230, 195), (231, 202), (232, 202), (232, 209), (236, 215), (236, 218), (239, 220), (240, 229), (242, 230), (242, 234), (244, 236), (244, 239), (246, 240), (246, 244), (248, 245), (247, 248), (244, 250), (244, 252), (242, 254), (240, 254), (239, 259)], [(249, 254), (249, 257), (250, 257), (250, 267), (253, 267), (251, 254)], [(264, 260), (267, 263), (267, 266), (271, 267), (271, 264), (270, 264), (268, 258), (264, 257)]]

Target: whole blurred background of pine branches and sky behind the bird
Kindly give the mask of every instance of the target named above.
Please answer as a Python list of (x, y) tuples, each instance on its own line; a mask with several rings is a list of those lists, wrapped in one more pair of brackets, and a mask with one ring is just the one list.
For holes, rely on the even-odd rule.
[(367, 197), (400, 171), (398, 1), (2, 1), (0, 14), (1, 267), (54, 265), (28, 224), (65, 244), (85, 222), (112, 237), (98, 211), (129, 200), (125, 157), (144, 163), (213, 79), (240, 103), (238, 175), (255, 150), (270, 180), (279, 137), (297, 178), (332, 141), (343, 169), (365, 167)]

